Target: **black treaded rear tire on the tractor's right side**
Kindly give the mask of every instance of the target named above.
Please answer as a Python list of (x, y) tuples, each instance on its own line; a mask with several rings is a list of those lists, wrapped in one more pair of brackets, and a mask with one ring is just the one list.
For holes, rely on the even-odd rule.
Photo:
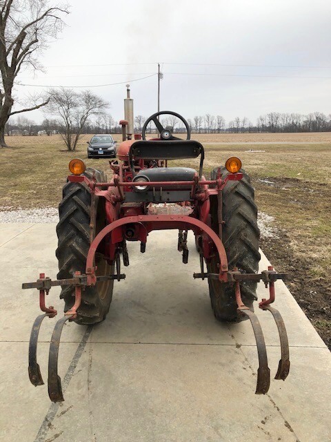
[[(211, 173), (211, 179), (217, 179), (219, 168)], [(259, 269), (259, 236), (257, 226), (257, 206), (254, 202), (254, 188), (250, 177), (241, 170), (243, 179), (228, 181), (222, 193), (223, 207), (222, 240), (228, 257), (229, 269), (237, 267), (241, 273), (257, 273)], [(221, 168), (222, 176), (228, 174), (225, 167)], [(210, 200), (212, 229), (219, 234), (217, 218), (217, 197)], [(218, 254), (207, 262), (209, 273), (219, 273)], [(220, 321), (238, 321), (243, 316), (237, 314), (237, 302), (232, 287), (219, 280), (208, 279), (210, 301), (214, 316)], [(253, 311), (253, 302), (257, 300), (257, 282), (241, 282), (241, 298), (243, 303)]]

